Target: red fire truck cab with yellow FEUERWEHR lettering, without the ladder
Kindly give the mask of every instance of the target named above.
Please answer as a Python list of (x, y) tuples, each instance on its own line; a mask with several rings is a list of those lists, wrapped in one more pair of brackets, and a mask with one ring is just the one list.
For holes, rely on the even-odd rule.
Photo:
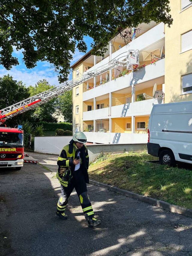
[(0, 126), (0, 168), (21, 170), (24, 158), (24, 136), (22, 126), (8, 128)]

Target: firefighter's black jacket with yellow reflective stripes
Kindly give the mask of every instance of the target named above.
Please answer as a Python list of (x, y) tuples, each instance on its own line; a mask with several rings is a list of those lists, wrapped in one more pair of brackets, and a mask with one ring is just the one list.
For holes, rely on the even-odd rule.
[(58, 170), (56, 173), (56, 177), (61, 183), (61, 185), (67, 187), (68, 181), (64, 181), (63, 174), (59, 174), (60, 169), (64, 170), (70, 170), (70, 177), (72, 178), (73, 172), (75, 170), (75, 164), (73, 164), (73, 160), (77, 158), (78, 152), (80, 153), (80, 168), (82, 170), (83, 176), (85, 178), (85, 182), (89, 183), (89, 177), (88, 177), (88, 165), (89, 165), (89, 155), (88, 150), (85, 145), (81, 147), (81, 149), (78, 149), (75, 145), (75, 143), (72, 141), (70, 144), (64, 146), (64, 148), (61, 150), (61, 153), (58, 157)]

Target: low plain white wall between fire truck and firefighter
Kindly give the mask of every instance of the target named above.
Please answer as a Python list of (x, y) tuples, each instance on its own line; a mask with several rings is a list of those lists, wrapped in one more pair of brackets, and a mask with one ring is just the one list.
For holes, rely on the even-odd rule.
[(59, 155), (61, 149), (69, 144), (72, 136), (35, 137), (34, 152)]

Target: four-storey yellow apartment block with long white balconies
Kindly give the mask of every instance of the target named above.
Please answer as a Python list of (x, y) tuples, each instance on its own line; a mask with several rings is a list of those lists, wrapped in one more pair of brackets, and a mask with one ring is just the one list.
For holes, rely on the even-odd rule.
[[(71, 66), (75, 79), (126, 56), (128, 50), (139, 50), (140, 64), (134, 71), (118, 66), (73, 88), (73, 133), (84, 131), (88, 142), (146, 143), (152, 106), (164, 103), (158, 95), (165, 90), (165, 26), (151, 22), (136, 29), (128, 44), (116, 36), (103, 57), (90, 51)], [(153, 97), (155, 84), (158, 92)]]

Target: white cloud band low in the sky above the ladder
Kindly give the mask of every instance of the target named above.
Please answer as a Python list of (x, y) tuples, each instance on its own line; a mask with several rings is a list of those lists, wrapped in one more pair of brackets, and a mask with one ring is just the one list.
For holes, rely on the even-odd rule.
[(13, 77), (14, 80), (22, 81), (23, 84), (26, 84), (26, 86), (35, 86), (35, 84), (39, 80), (46, 79), (50, 85), (58, 85), (58, 77), (57, 74), (55, 74), (50, 69), (44, 69), (44, 70), (27, 70), (27, 69), (20, 69), (18, 67), (13, 67), (11, 70), (6, 70), (5, 68), (0, 68), (0, 77), (9, 74)]

